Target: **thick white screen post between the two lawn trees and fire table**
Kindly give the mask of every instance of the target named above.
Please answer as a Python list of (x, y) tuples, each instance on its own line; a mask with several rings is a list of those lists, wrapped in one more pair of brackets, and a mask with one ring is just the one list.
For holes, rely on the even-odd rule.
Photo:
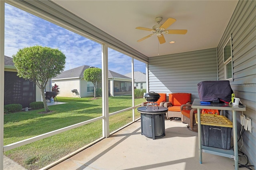
[(108, 45), (102, 45), (102, 135), (109, 137), (109, 113), (108, 113)]

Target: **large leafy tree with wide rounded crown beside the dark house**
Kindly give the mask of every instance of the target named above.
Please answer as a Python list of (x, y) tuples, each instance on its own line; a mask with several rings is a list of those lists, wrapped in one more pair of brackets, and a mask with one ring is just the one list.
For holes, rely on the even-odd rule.
[(33, 81), (40, 88), (44, 109), (48, 112), (44, 89), (48, 79), (64, 70), (66, 56), (58, 49), (36, 45), (19, 49), (12, 57), (17, 75)]

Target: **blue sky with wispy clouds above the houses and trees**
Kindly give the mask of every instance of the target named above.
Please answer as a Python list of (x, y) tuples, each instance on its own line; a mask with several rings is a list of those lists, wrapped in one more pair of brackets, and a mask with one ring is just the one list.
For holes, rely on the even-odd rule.
[[(5, 5), (4, 55), (12, 57), (24, 47), (58, 48), (66, 55), (65, 70), (90, 65), (101, 68), (101, 45), (9, 4)], [(131, 57), (108, 50), (108, 69), (131, 72)], [(134, 59), (134, 71), (145, 73), (145, 63)]]

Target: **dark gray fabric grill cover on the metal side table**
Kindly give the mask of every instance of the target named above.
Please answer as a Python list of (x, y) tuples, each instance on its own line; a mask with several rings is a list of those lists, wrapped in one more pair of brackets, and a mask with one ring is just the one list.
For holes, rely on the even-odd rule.
[(197, 84), (200, 101), (215, 101), (221, 99), (231, 101), (233, 90), (229, 81), (201, 81)]

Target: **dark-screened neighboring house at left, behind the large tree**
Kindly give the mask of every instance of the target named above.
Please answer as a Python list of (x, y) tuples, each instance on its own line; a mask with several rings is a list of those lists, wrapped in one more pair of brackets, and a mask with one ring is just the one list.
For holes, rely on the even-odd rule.
[(40, 91), (37, 100), (36, 84), (17, 76), (17, 69), (11, 57), (4, 56), (4, 105), (21, 104), (22, 107), (29, 107), (34, 101), (40, 101)]

